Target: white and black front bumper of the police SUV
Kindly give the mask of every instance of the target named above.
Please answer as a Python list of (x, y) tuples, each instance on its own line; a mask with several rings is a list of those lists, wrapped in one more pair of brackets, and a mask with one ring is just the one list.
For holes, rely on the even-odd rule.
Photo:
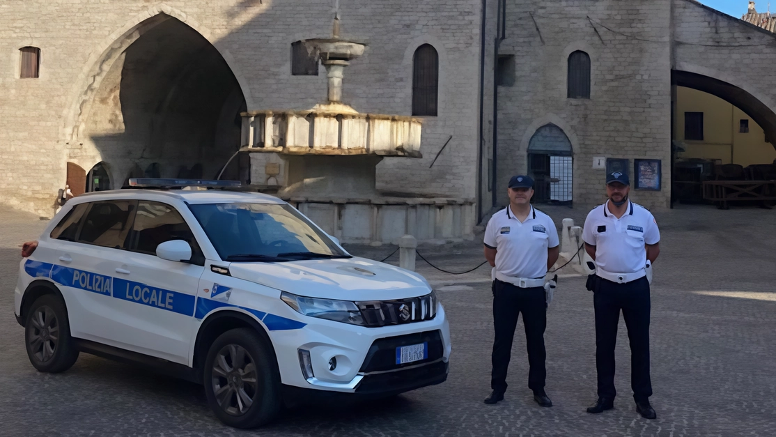
[[(311, 318), (306, 317), (304, 328), (270, 332), (285, 386), (383, 396), (442, 383), (447, 377), (451, 345), (442, 305), (430, 321), (381, 328)], [(424, 342), (427, 358), (396, 364), (397, 347)], [(300, 350), (309, 352), (313, 377), (303, 373)]]

